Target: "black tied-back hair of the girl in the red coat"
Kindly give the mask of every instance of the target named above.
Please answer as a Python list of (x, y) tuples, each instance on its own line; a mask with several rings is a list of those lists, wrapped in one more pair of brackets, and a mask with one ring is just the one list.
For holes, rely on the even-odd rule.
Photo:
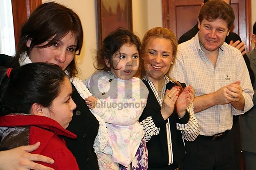
[(50, 107), (58, 96), (66, 74), (50, 63), (30, 63), (11, 70), (0, 67), (0, 116), (11, 113), (30, 114), (38, 103)]

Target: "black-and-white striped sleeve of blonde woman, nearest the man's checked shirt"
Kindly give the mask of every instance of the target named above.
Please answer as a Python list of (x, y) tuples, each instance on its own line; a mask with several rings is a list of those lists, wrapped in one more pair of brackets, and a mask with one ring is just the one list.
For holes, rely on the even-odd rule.
[(197, 118), (195, 117), (193, 105), (187, 108), (187, 112), (190, 114), (190, 119), (187, 124), (176, 124), (177, 130), (181, 130), (183, 139), (186, 141), (194, 141), (200, 132), (200, 127)]

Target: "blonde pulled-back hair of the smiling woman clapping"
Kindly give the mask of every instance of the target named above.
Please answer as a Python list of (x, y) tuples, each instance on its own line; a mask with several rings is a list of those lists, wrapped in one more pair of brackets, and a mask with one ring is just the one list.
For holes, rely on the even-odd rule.
[[(141, 53), (140, 53), (143, 60), (147, 56), (146, 49), (145, 49), (146, 45), (147, 45), (147, 43), (149, 43), (149, 40), (151, 40), (153, 38), (165, 38), (165, 39), (171, 41), (171, 45), (172, 45), (172, 49), (173, 49), (173, 53), (172, 53), (172, 55), (173, 55), (173, 61), (172, 61), (173, 64), (169, 68), (169, 71), (167, 72), (167, 76), (171, 81), (174, 81), (178, 86), (180, 86), (182, 88), (181, 83), (179, 83), (178, 81), (175, 81), (174, 79), (172, 79), (169, 76), (169, 73), (171, 72), (171, 69), (172, 69), (172, 67), (175, 63), (177, 49), (178, 49), (178, 40), (177, 40), (174, 32), (171, 31), (171, 29), (163, 28), (163, 27), (155, 27), (155, 28), (150, 29), (149, 31), (147, 31), (146, 34), (144, 35), (143, 40), (142, 40), (142, 49), (141, 49)], [(142, 74), (141, 77), (146, 75), (144, 65), (143, 65), (141, 74)]]

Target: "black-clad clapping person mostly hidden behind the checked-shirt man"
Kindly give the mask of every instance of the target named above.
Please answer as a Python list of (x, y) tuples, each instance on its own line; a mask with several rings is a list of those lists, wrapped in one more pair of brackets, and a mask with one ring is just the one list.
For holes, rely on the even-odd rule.
[[(204, 0), (203, 3), (201, 4), (201, 7), (208, 2), (209, 0)], [(231, 4), (231, 0), (223, 0), (227, 4)], [(197, 32), (199, 31), (198, 28), (198, 23), (189, 31), (187, 31), (185, 34), (183, 34), (179, 40), (178, 44), (181, 44), (182, 42), (186, 42), (187, 40), (190, 40), (193, 38)], [(249, 71), (251, 83), (254, 83), (255, 80), (255, 74), (253, 73), (253, 70), (250, 66), (250, 60), (247, 56), (246, 51), (245, 51), (245, 43), (242, 42), (240, 36), (238, 34), (235, 34), (234, 32), (230, 31), (229, 35), (226, 36), (225, 42), (237, 49), (239, 49), (242, 53), (242, 56), (245, 59), (245, 63), (247, 66), (247, 69)], [(241, 157), (242, 157), (242, 144), (241, 144), (241, 133), (240, 133), (240, 125), (239, 125), (239, 115), (238, 116), (233, 116), (233, 132), (234, 132), (234, 147), (235, 147), (235, 162), (236, 162), (236, 170), (241, 170), (242, 165), (241, 165)]]

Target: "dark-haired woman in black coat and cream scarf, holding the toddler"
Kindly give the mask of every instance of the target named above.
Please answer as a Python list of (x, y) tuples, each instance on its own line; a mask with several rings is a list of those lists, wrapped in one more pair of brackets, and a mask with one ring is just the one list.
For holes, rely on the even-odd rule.
[[(77, 74), (75, 55), (80, 54), (82, 40), (81, 21), (73, 10), (55, 2), (41, 4), (33, 11), (21, 29), (16, 56), (11, 58), (0, 55), (0, 64), (6, 67), (19, 67), (27, 63), (45, 62), (57, 64), (65, 70), (72, 83), (73, 101), (77, 105), (77, 108), (73, 110), (73, 120), (67, 130), (76, 134), (77, 139), (69, 139), (65, 136), (63, 138), (75, 156), (80, 169), (98, 170), (94, 148), (101, 148), (101, 145), (107, 143), (108, 138), (104, 121), (94, 116), (85, 104), (84, 98), (91, 96), (91, 93), (75, 77)], [(96, 138), (97, 134), (101, 138)], [(28, 159), (31, 156), (29, 155)], [(13, 161), (20, 161), (20, 158)], [(34, 160), (30, 159), (30, 161)], [(27, 167), (29, 161), (25, 162), (24, 167)], [(27, 169), (35, 169), (35, 166), (39, 165), (30, 164)], [(38, 170), (44, 170), (43, 168), (40, 167)]]

